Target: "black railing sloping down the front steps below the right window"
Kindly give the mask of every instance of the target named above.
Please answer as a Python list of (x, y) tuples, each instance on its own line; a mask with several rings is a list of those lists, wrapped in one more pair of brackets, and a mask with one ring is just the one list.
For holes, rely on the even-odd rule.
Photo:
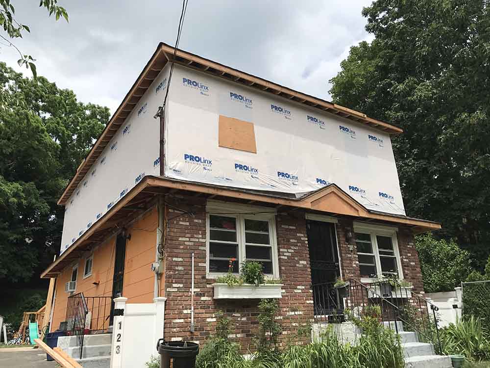
[[(437, 306), (428, 302), (407, 287), (403, 287), (396, 280), (380, 281), (363, 284), (357, 280), (350, 280), (349, 298), (347, 308), (355, 317), (377, 314), (380, 322), (396, 333), (400, 329), (400, 322), (405, 331), (418, 334), (421, 342), (431, 342), (436, 353), (441, 354), (442, 346), (439, 337)], [(374, 311), (373, 307), (379, 310)]]

